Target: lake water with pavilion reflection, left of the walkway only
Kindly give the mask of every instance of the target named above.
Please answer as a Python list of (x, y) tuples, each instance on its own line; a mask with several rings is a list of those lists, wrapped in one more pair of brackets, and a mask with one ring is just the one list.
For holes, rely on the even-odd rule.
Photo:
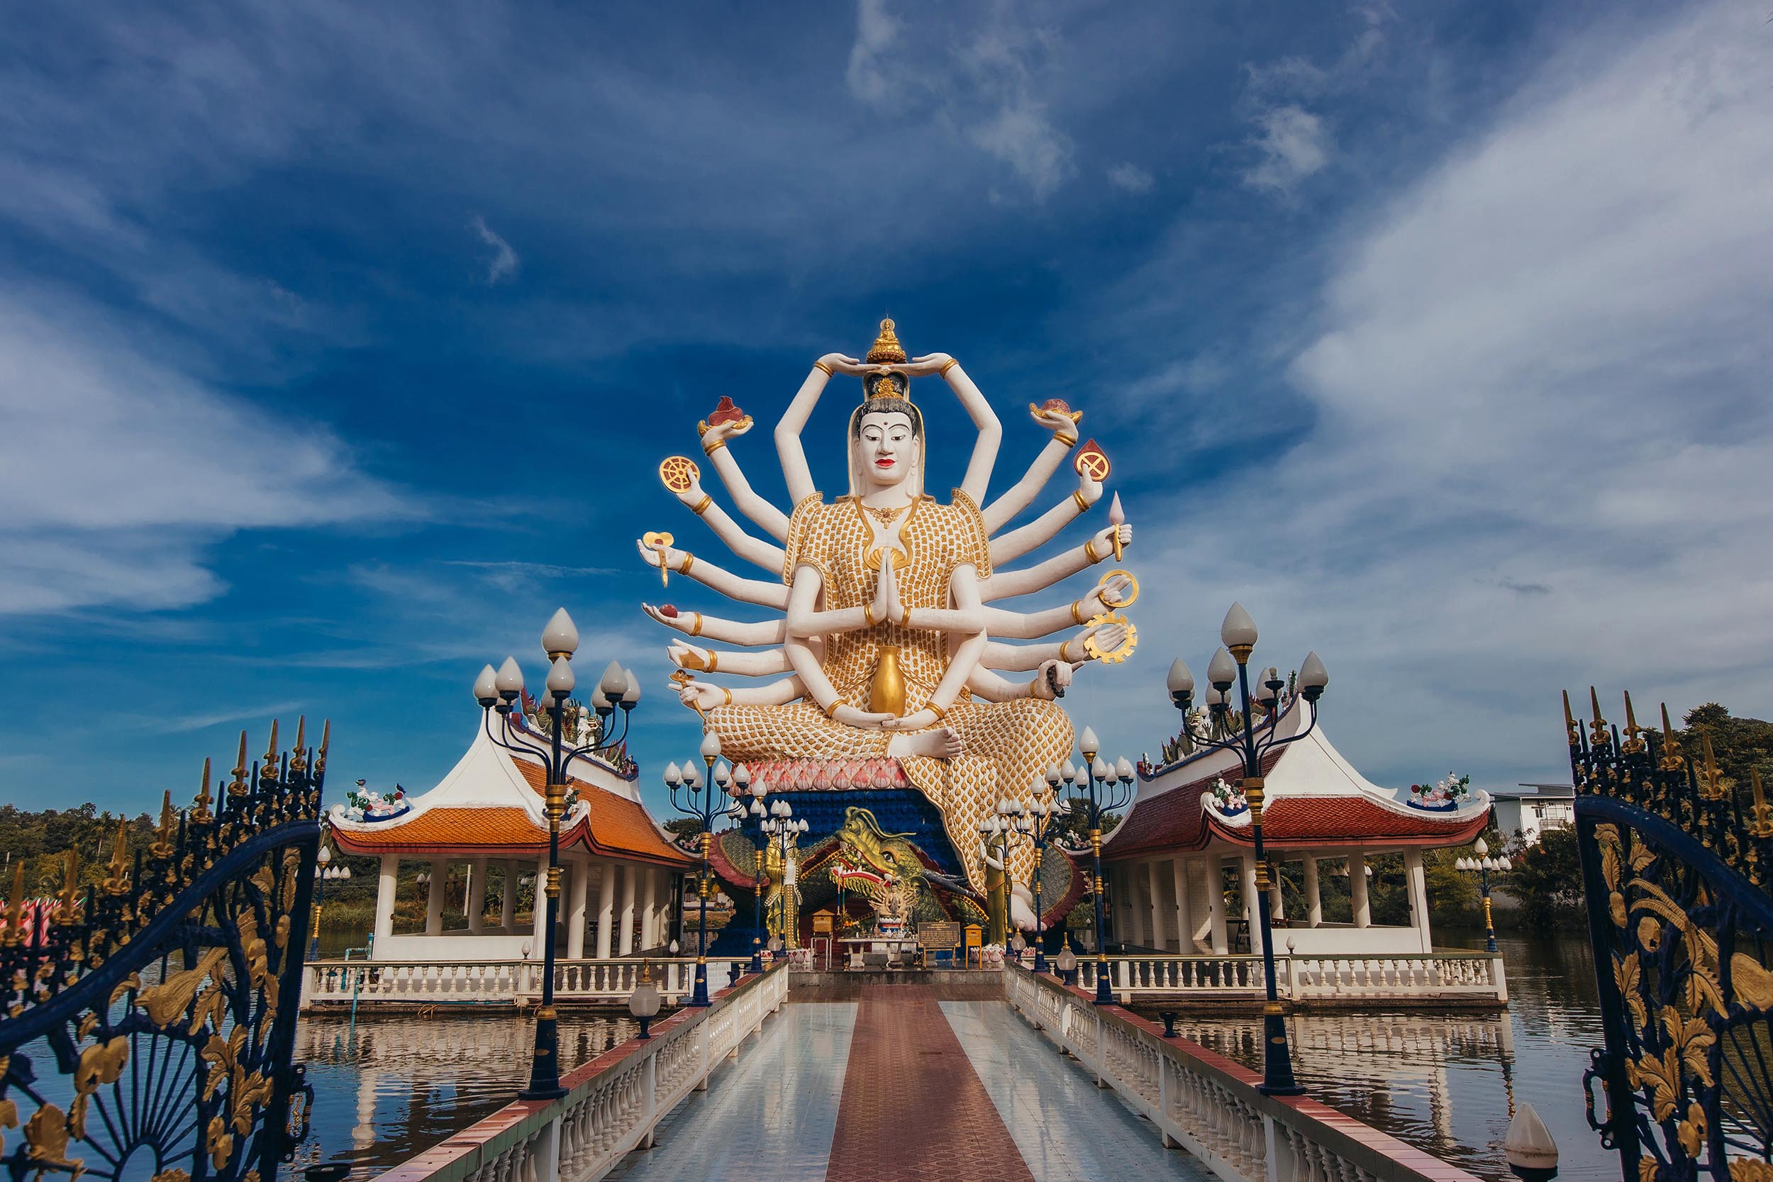
[[(560, 1065), (571, 1070), (637, 1031), (626, 1015), (560, 1015)], [(514, 1014), (376, 1015), (356, 1023), (309, 1014), (296, 1061), (314, 1085), (309, 1141), (296, 1166), (348, 1159), (371, 1177), (498, 1111), (528, 1081), (535, 1024)], [(291, 1171), (294, 1177), (300, 1173)]]

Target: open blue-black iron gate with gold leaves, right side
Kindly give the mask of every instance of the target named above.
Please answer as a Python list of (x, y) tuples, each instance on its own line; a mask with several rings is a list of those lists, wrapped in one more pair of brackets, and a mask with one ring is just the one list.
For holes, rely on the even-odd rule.
[(1628, 695), (1621, 734), (1589, 698), (1585, 728), (1564, 696), (1606, 1037), (1589, 1124), (1628, 1182), (1773, 1182), (1773, 806), (1759, 776), (1722, 776), (1709, 741), (1684, 751), (1667, 707), (1644, 728)]

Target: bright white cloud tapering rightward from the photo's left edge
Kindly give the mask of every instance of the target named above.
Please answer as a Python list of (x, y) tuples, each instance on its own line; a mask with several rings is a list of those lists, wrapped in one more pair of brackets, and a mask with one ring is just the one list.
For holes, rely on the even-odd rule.
[(0, 298), (0, 613), (184, 606), (222, 590), (204, 549), (234, 530), (411, 512), (328, 431), (211, 390), (105, 321), (43, 291)]

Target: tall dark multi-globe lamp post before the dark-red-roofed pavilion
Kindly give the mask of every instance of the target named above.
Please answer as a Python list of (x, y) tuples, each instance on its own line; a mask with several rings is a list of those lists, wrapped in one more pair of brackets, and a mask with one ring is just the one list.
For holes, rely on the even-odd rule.
[[(1307, 654), (1305, 663), (1300, 665), (1298, 691), (1312, 712), (1312, 721), (1300, 734), (1280, 739), (1278, 725), (1280, 716), (1285, 712), (1280, 709), (1280, 691), (1285, 689), (1285, 682), (1280, 680), (1277, 670), (1269, 668), (1255, 691), (1255, 704), (1264, 712), (1261, 734), (1257, 734), (1250, 698), (1250, 652), (1255, 649), (1255, 620), (1250, 618), (1241, 603), (1234, 603), (1230, 611), (1225, 613), (1225, 622), (1220, 626), (1220, 640), (1225, 647), (1215, 652), (1213, 661), (1207, 665), (1207, 680), (1213, 688), (1206, 698), (1215, 727), (1209, 728), (1207, 737), (1197, 739), (1197, 743), (1204, 751), (1232, 751), (1238, 755), (1243, 764), (1243, 796), (1250, 803), (1250, 840), (1255, 845), (1254, 906), (1262, 932), (1262, 976), (1268, 985), (1268, 999), (1262, 1005), (1262, 1083), (1257, 1090), (1264, 1095), (1300, 1095), (1305, 1088), (1293, 1077), (1287, 1023), (1282, 1017), (1280, 994), (1275, 987), (1275, 934), (1268, 914), (1268, 888), (1273, 879), (1269, 877), (1268, 858), (1262, 849), (1262, 758), (1273, 750), (1298, 743), (1317, 727), (1317, 698), (1323, 696), (1324, 686), (1330, 684), (1330, 673), (1316, 652)], [(1238, 709), (1243, 714), (1241, 728), (1230, 725), (1227, 718), (1230, 711), (1227, 695), (1232, 684), (1238, 686)], [(1195, 679), (1181, 657), (1170, 666), (1168, 689), (1175, 709), (1183, 712), (1183, 727), (1186, 728), (1190, 725), (1188, 711), (1195, 696)], [(1215, 739), (1215, 734), (1220, 737)]]

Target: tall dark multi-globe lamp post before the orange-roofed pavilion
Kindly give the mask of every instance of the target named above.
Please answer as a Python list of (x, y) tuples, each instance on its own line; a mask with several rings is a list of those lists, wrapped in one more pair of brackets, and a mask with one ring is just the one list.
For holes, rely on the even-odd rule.
[[(543, 652), (548, 654), (548, 684), (535, 698), (535, 714), (548, 719), (548, 748), (535, 744), (539, 735), (523, 721), (523, 670), (516, 657), (495, 672), (491, 665), (473, 680), (473, 696), (480, 704), (480, 723), (486, 735), (504, 750), (539, 766), (546, 773), (543, 799), (548, 808), (548, 914), (543, 929), (543, 1003), (535, 1007), (535, 1047), (530, 1056), (530, 1086), (518, 1093), (525, 1100), (553, 1100), (566, 1095), (560, 1086), (560, 1035), (553, 1008), (555, 927), (560, 918), (560, 819), (566, 813), (569, 769), (576, 758), (590, 758), (615, 748), (628, 737), (628, 719), (640, 702), (640, 680), (633, 672), (610, 661), (590, 702), (598, 712), (598, 732), (590, 743), (567, 748), (566, 700), (573, 693), (573, 652), (578, 649), (578, 627), (560, 608), (543, 629)], [(617, 707), (622, 712), (622, 732), (610, 735), (610, 719)], [(493, 725), (493, 716), (498, 725)], [(541, 884), (537, 884), (541, 886)]]

